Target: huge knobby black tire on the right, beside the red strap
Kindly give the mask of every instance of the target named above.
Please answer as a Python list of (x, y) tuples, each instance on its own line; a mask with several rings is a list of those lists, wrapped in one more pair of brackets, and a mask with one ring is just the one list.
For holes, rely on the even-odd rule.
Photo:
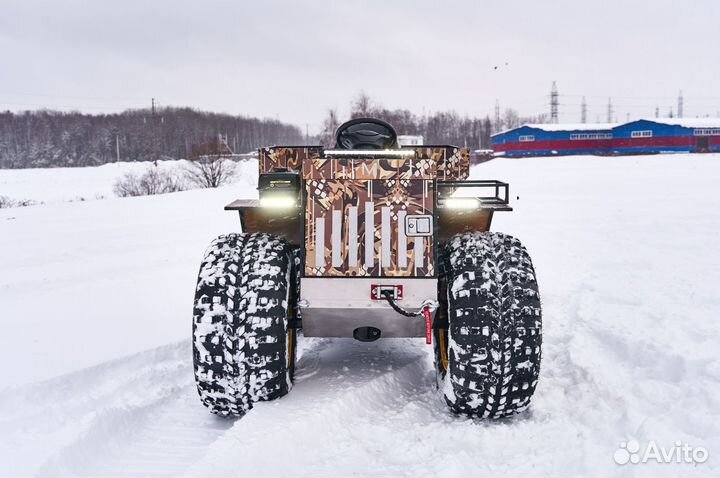
[(540, 372), (535, 270), (519, 240), (454, 236), (443, 253), (435, 330), (439, 387), (453, 412), (503, 418), (530, 404)]

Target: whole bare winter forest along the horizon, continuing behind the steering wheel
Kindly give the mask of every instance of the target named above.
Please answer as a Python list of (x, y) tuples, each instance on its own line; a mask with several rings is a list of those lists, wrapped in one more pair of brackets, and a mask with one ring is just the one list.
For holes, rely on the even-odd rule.
[[(376, 117), (401, 135), (422, 135), (425, 144), (452, 144), (490, 149), (491, 134), (521, 122), (511, 108), (491, 121), (454, 111), (417, 115), (388, 109), (360, 93), (350, 103), (350, 117)], [(262, 146), (322, 144), (334, 146), (337, 127), (350, 118), (328, 110), (317, 136), (279, 120), (231, 116), (191, 108), (128, 110), (90, 115), (49, 110), (0, 112), (0, 168), (96, 166), (114, 161), (191, 159), (198, 145), (222, 138), (225, 150), (249, 153)]]

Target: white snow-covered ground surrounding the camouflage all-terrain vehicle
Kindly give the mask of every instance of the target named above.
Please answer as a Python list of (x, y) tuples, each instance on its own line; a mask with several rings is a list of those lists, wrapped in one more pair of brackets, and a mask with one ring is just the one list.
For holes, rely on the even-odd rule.
[[(0, 210), (0, 476), (720, 472), (720, 155), (473, 169), (511, 183), (515, 211), (493, 229), (530, 250), (544, 306), (531, 410), (495, 423), (448, 413), (428, 347), (400, 339), (305, 340), (288, 396), (211, 416), (191, 368), (195, 274), (210, 239), (238, 229), (222, 206), (254, 195), (253, 180), (63, 203), (72, 189), (41, 196), (54, 171), (86, 181), (78, 195), (116, 176), (0, 171), (0, 195), (13, 183), (8, 196), (55, 202)], [(709, 459), (617, 465), (628, 439)]]

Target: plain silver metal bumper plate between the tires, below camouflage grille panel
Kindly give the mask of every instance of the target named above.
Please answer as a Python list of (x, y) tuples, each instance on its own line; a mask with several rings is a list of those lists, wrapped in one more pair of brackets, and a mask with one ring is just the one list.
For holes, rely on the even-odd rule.
[(352, 337), (358, 327), (375, 327), (382, 337), (424, 337), (422, 317), (404, 317), (386, 301), (373, 300), (373, 284), (403, 286), (398, 305), (409, 310), (418, 310), (426, 299), (437, 299), (435, 278), (302, 278), (300, 298), (307, 303), (302, 309), (303, 335)]

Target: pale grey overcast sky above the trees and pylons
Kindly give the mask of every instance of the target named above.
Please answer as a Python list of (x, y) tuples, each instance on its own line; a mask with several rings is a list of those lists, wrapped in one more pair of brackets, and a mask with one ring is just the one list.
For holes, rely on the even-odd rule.
[[(148, 106), (317, 131), (364, 90), (417, 113), (720, 111), (720, 1), (0, 0), (0, 109)], [(578, 95), (578, 96), (569, 96)]]

